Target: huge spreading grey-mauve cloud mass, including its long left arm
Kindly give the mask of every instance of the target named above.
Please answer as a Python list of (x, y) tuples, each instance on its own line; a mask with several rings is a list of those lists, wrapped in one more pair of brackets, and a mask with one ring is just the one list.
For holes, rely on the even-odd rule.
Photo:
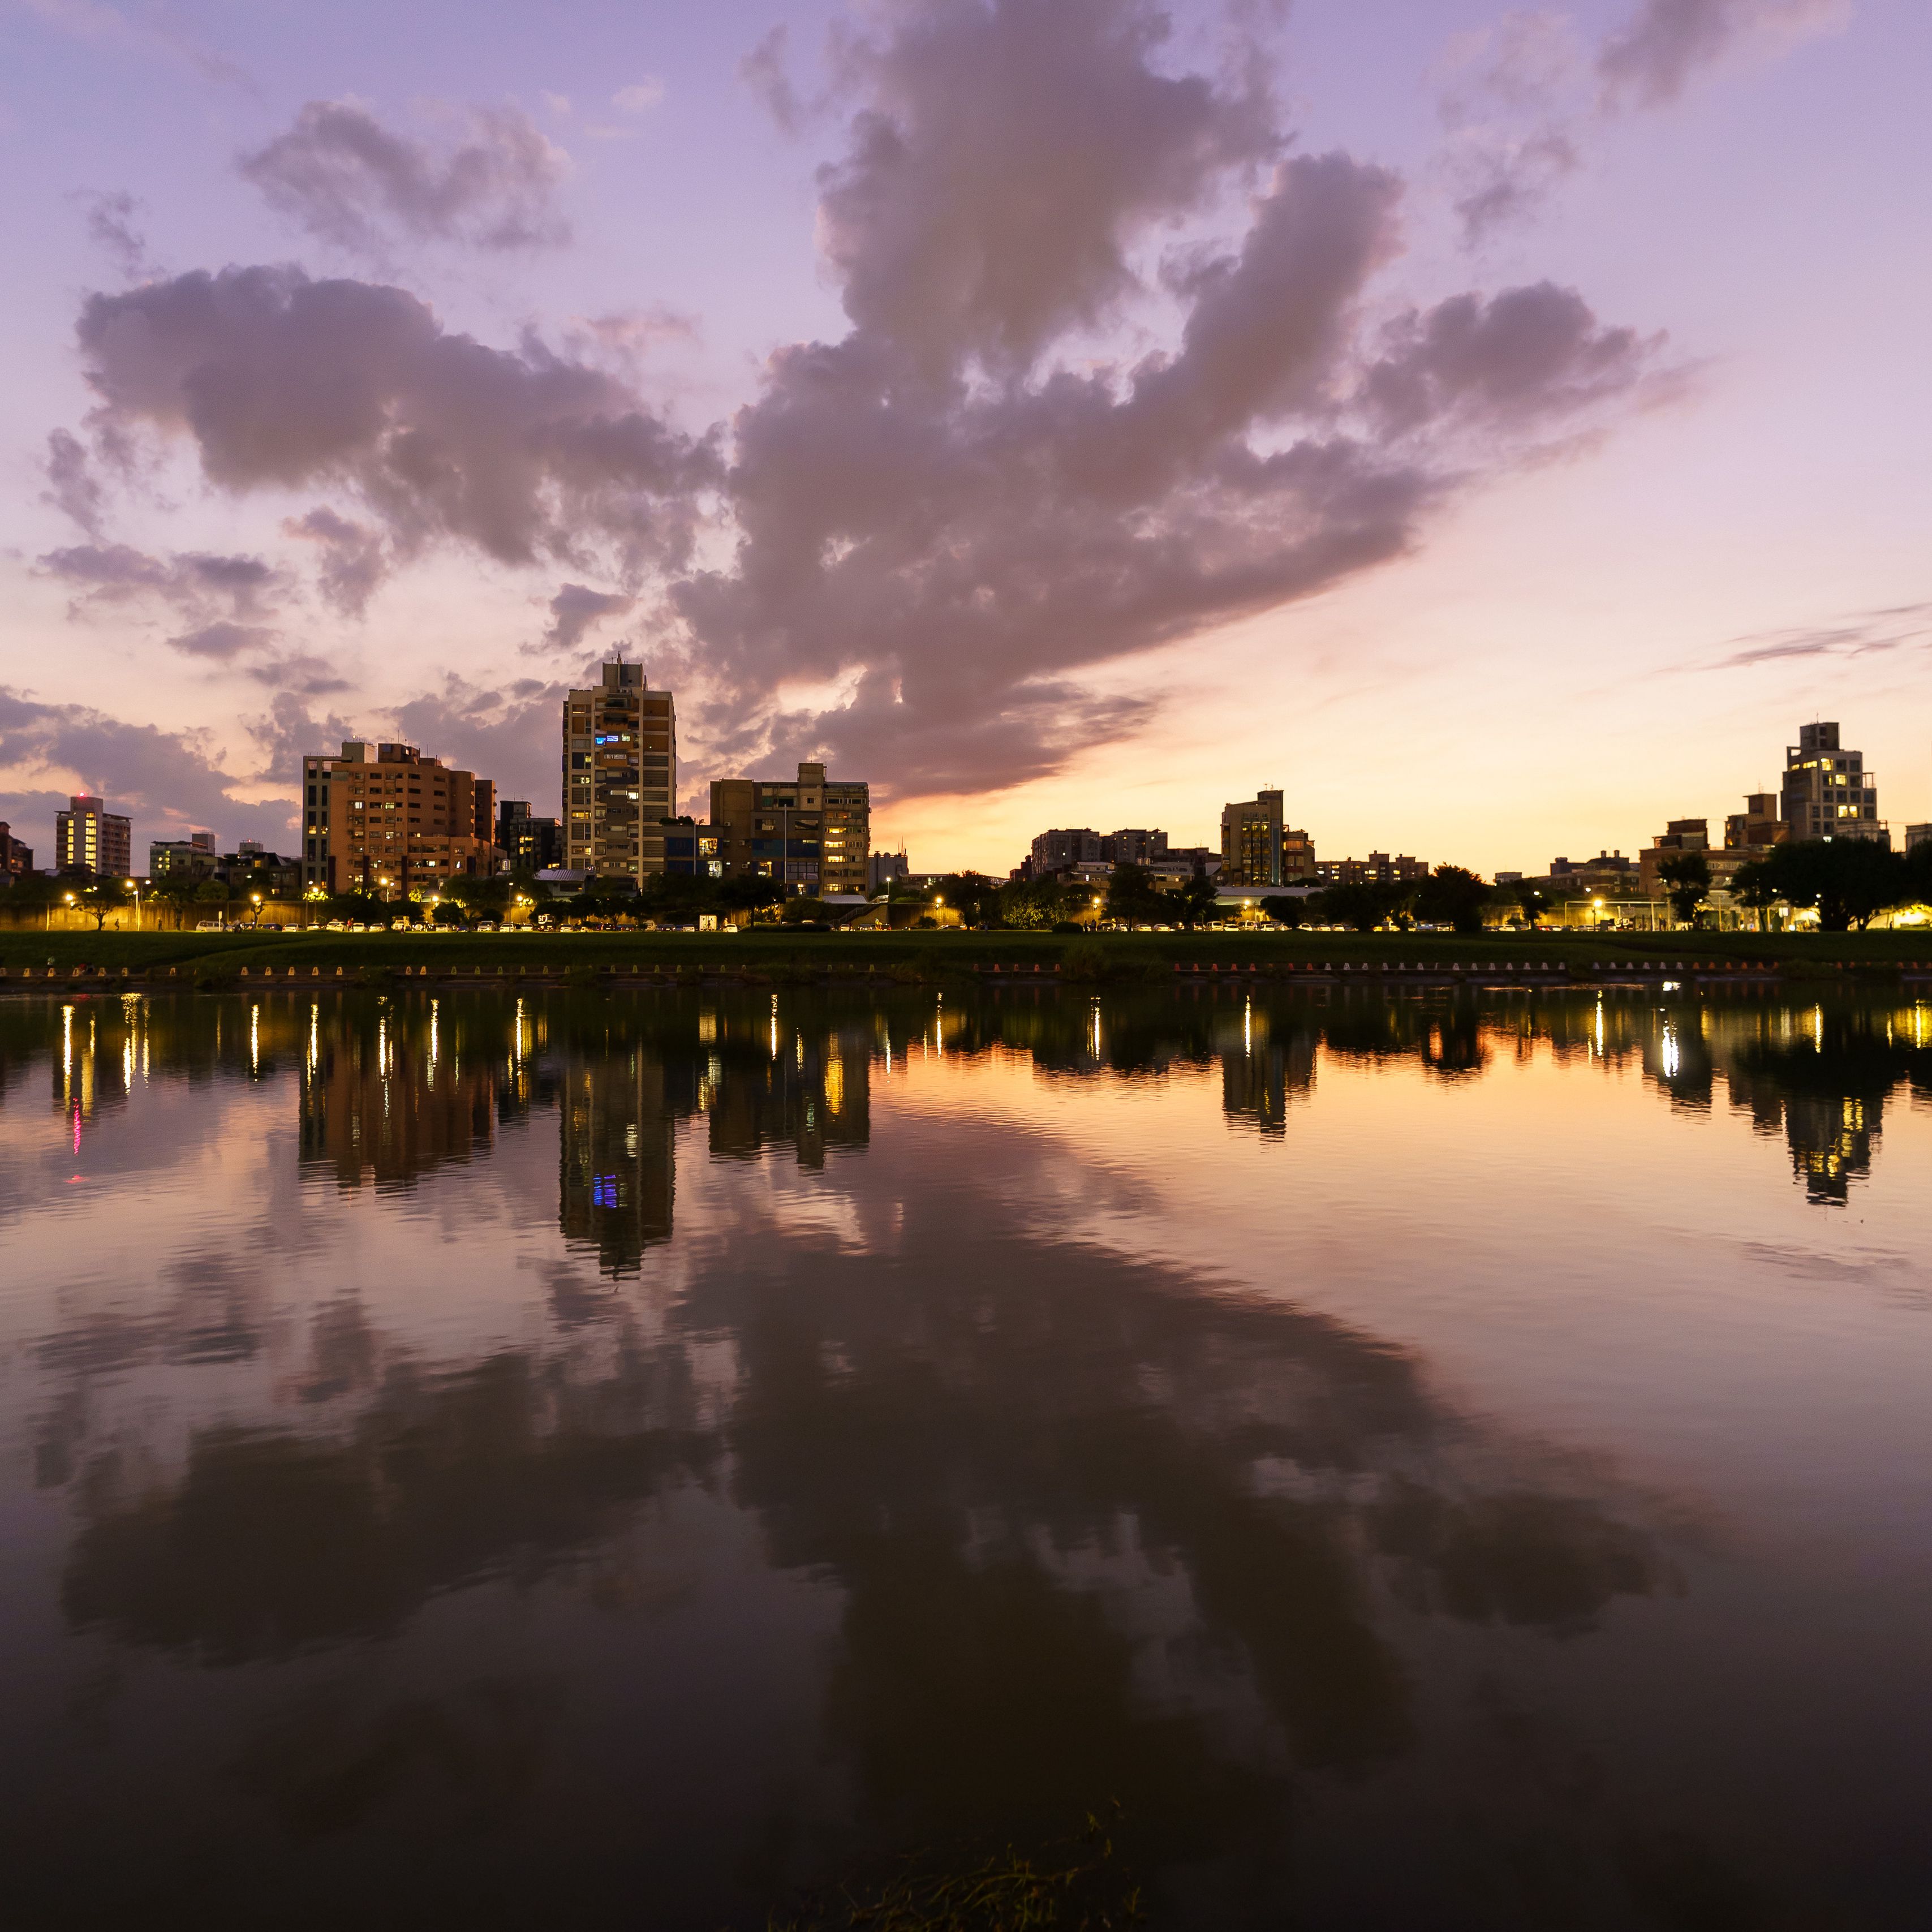
[[(1401, 554), (1654, 354), (1544, 282), (1397, 299), (1403, 184), (1298, 153), (1254, 64), (1177, 71), (1163, 33), (1144, 0), (889, 14), (821, 172), (850, 330), (779, 350), (711, 435), (398, 288), (263, 267), (91, 298), (97, 433), (354, 498), (367, 541), (299, 529), (359, 560), (342, 607), (429, 543), (551, 566), (556, 653), (636, 601), (732, 761), (827, 752), (898, 792), (1051, 771), (1146, 726), (1105, 667)], [(446, 703), (425, 742), (549, 740), (535, 697)]]

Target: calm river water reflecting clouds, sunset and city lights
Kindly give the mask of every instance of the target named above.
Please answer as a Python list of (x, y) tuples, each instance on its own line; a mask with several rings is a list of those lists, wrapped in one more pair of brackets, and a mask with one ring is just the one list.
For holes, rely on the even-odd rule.
[(0, 1009), (0, 1918), (1932, 1922), (1932, 1007)]

